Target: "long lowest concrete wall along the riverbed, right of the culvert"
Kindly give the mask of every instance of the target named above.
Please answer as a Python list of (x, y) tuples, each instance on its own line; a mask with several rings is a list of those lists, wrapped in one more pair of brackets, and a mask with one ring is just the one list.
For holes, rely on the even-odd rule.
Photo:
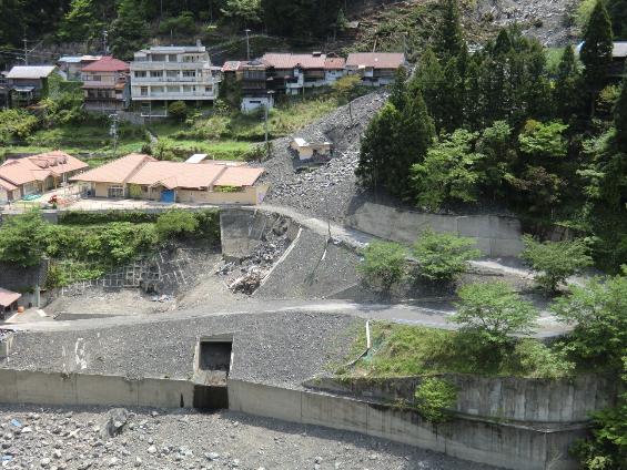
[(513, 470), (569, 470), (570, 443), (584, 426), (520, 426), (457, 417), (434, 426), (415, 411), (313, 391), (229, 380), (232, 410), (325, 426)]

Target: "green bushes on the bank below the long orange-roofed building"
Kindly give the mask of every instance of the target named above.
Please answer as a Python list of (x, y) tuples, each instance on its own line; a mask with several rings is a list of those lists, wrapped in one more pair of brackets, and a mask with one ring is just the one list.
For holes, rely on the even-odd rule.
[(50, 258), (48, 287), (95, 279), (171, 243), (220, 239), (216, 211), (62, 214), (58, 225), (37, 211), (10, 217), (0, 231), (0, 260), (34, 266)]

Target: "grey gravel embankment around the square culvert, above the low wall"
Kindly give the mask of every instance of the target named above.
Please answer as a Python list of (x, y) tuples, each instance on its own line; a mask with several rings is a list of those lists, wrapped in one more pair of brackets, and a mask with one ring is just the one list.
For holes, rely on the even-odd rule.
[[(351, 344), (340, 337), (355, 321), (363, 320), (302, 310), (212, 315), (109, 327), (95, 319), (93, 329), (83, 326), (78, 330), (19, 335), (11, 356), (0, 359), (0, 367), (188, 379), (193, 372), (199, 337), (236, 331), (233, 352), (237, 360), (230, 377), (300, 387), (303, 380), (320, 374), (330, 360), (345, 357)], [(67, 354), (77, 347), (81, 351), (79, 357)]]

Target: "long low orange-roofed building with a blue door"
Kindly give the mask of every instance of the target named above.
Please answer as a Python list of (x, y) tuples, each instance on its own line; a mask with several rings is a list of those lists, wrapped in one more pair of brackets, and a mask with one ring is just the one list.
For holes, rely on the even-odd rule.
[(267, 192), (257, 184), (263, 168), (218, 161), (162, 162), (132, 153), (72, 178), (88, 196), (164, 203), (259, 204)]

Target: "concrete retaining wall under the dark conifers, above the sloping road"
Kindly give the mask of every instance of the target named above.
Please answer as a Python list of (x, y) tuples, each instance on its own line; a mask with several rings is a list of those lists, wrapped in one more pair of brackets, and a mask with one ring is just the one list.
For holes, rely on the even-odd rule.
[(474, 238), (486, 256), (517, 256), (523, 251), (520, 221), (496, 215), (438, 215), (365, 203), (348, 217), (346, 225), (400, 243), (413, 243), (421, 232), (447, 232)]

